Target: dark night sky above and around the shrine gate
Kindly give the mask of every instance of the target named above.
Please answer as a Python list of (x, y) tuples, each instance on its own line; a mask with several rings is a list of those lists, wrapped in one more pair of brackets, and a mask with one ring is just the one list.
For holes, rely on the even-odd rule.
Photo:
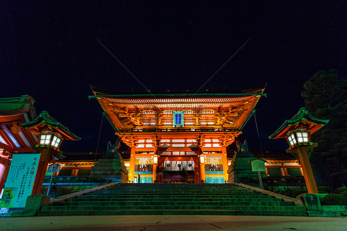
[[(268, 83), (268, 96), (255, 108), (261, 144), (286, 149), (284, 140), (267, 137), (304, 106), (305, 81), (330, 69), (346, 77), (346, 7), (345, 1), (3, 2), (0, 97), (29, 95), (37, 114), (46, 110), (82, 138), (63, 142), (63, 152), (95, 151), (102, 109), (88, 99), (90, 85), (143, 88), (95, 37), (153, 90), (199, 89), (251, 38), (202, 91)], [(243, 133), (240, 140), (260, 150), (254, 117)], [(104, 119), (100, 151), (109, 140), (115, 142), (114, 130)]]

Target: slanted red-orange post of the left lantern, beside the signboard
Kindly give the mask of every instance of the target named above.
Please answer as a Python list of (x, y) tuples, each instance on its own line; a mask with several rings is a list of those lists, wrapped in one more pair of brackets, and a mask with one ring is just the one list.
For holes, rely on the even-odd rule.
[(37, 165), (37, 171), (36, 171), (34, 186), (33, 186), (31, 195), (40, 194), (44, 176), (46, 175), (46, 170), (47, 170), (47, 166), (50, 161), (51, 155), (52, 155), (52, 151), (49, 148), (43, 149), (43, 151), (41, 152), (40, 161)]

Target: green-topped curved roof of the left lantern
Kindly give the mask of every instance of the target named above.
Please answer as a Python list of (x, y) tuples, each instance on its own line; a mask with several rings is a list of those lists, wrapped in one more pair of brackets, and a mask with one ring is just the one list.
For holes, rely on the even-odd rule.
[(68, 127), (62, 125), (52, 116), (50, 116), (46, 111), (42, 111), (42, 113), (40, 113), (40, 115), (37, 116), (33, 121), (30, 121), (28, 123), (20, 123), (20, 126), (36, 135), (39, 132), (49, 130), (59, 133), (66, 140), (81, 140), (80, 137), (70, 132)]

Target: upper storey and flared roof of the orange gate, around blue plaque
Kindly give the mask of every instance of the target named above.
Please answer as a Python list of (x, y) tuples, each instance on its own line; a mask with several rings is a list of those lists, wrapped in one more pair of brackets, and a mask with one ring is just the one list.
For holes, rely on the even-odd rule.
[[(252, 115), (263, 94), (262, 88), (226, 94), (127, 94), (122, 95), (92, 87), (110, 123), (122, 141), (134, 146), (139, 137), (156, 134), (161, 137), (199, 136), (220, 139), (220, 145), (234, 142)], [(173, 114), (183, 112), (184, 126), (173, 128)], [(201, 137), (201, 134), (202, 137)], [(154, 139), (154, 138), (153, 138)]]

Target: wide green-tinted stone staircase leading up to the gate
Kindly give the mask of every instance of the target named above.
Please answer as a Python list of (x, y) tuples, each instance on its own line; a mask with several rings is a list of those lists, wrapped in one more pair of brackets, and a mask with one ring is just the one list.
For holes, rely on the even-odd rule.
[(42, 206), (62, 215), (307, 216), (305, 206), (234, 184), (117, 184)]

